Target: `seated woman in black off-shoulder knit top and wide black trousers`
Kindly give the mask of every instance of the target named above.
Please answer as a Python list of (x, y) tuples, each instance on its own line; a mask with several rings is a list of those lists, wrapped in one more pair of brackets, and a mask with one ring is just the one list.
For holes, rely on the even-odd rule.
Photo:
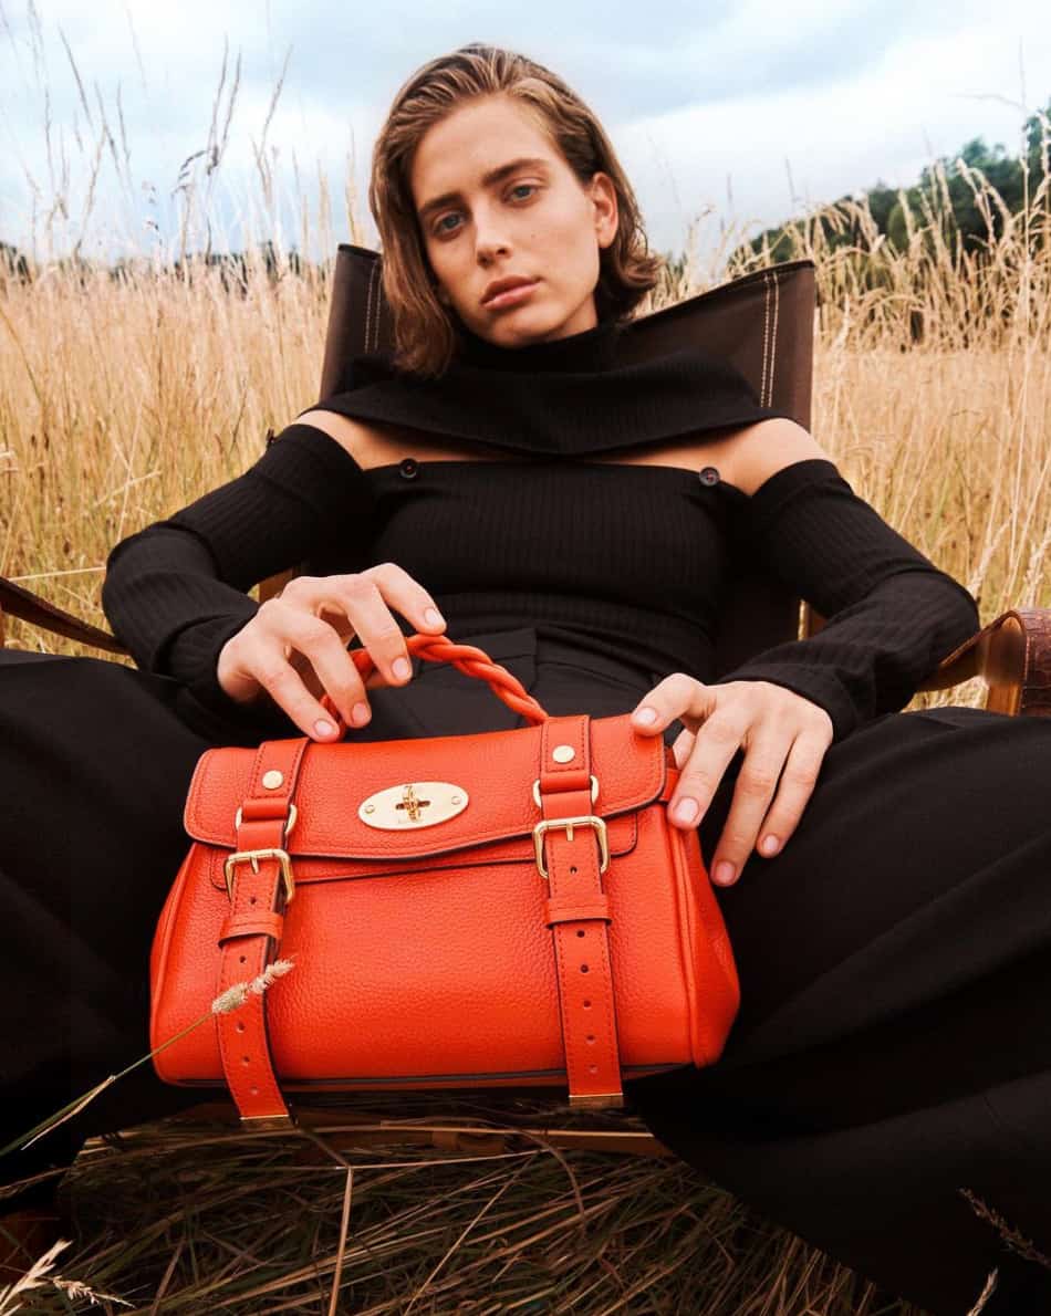
[[(358, 358), (356, 387), (252, 470), (113, 549), (103, 604), (138, 671), (0, 655), (4, 800), (61, 797), (63, 824), (4, 819), (33, 948), (3, 957), (7, 998), (32, 999), (5, 1024), (9, 1136), (67, 1099), (67, 1067), (72, 1094), (146, 1049), (149, 942), (208, 745), (332, 738), (325, 691), (362, 740), (516, 724), (410, 659), (406, 633), (448, 628), (549, 712), (635, 709), (673, 745), (676, 803), (695, 805), (673, 821), (699, 828), (743, 1000), (718, 1065), (626, 1084), (657, 1136), (935, 1316), (993, 1269), (986, 1312), (1047, 1309), (1051, 1273), (959, 1190), (1051, 1252), (1051, 722), (900, 713), (979, 628), (973, 599), (734, 371), (618, 361), (659, 262), (553, 74), (485, 46), (425, 64), (381, 130), (370, 205), (395, 361)], [(828, 624), (710, 680), (739, 536)], [(246, 596), (304, 559), (281, 597)], [(200, 1099), (136, 1074), (70, 1137)]]

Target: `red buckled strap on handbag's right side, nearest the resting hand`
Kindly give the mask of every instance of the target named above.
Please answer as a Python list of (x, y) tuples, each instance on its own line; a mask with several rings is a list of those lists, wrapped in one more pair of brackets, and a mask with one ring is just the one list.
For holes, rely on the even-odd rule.
[[(545, 820), (586, 817), (591, 803), (590, 717), (548, 717), (540, 728), (540, 804)], [(599, 783), (601, 790), (602, 783)], [(610, 912), (599, 873), (599, 837), (593, 824), (549, 828), (541, 837), (551, 894), (552, 926), (562, 1017), (569, 1104), (622, 1107), (616, 1040)]]

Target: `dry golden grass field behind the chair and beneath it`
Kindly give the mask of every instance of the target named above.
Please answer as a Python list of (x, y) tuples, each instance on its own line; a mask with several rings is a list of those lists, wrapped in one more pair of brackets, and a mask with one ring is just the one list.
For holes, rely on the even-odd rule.
[[(968, 258), (936, 213), (913, 217), (906, 251), (863, 205), (851, 247), (795, 225), (818, 267), (814, 433), (983, 622), (1051, 605), (1050, 217), (1044, 175)], [(258, 250), (248, 263), (245, 295), (148, 258), (120, 282), (57, 265), (0, 278), (1, 575), (107, 625), (117, 540), (244, 471), (267, 426), (316, 400), (327, 270), (281, 251), (273, 278)], [(687, 261), (648, 309), (763, 263)], [(18, 621), (7, 642), (97, 657)], [(939, 701), (983, 690), (914, 705)], [(673, 1161), (504, 1142), (485, 1133), (502, 1117), (487, 1101), (402, 1094), (350, 1112), (482, 1132), (353, 1149), (333, 1115), (300, 1137), (171, 1124), (92, 1142), (66, 1183), (72, 1245), (0, 1313), (915, 1313)]]

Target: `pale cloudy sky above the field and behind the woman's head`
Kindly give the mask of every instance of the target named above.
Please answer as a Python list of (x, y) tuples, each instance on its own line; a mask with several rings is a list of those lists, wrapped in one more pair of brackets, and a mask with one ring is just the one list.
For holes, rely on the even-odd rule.
[[(78, 237), (84, 255), (169, 253), (195, 182), (215, 250), (240, 249), (249, 226), (302, 249), (294, 199), (316, 226), (324, 176), (333, 242), (352, 240), (349, 182), (375, 245), (369, 155), (394, 93), (425, 61), (487, 41), (598, 112), (651, 246), (684, 249), (697, 221), (705, 254), (720, 225), (752, 234), (877, 180), (909, 184), (972, 137), (1017, 154), (1026, 111), (1051, 99), (1050, 14), (1043, 0), (0, 0), (0, 240), (33, 250), (36, 232), (46, 257), (50, 229), (55, 254)], [(225, 150), (211, 178), (204, 157), (180, 176), (209, 142), (224, 43), (215, 139), (241, 62)]]

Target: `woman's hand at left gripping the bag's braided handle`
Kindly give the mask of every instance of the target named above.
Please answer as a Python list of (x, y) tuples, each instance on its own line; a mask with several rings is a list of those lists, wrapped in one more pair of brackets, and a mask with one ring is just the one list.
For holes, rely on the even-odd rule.
[[(324, 694), (348, 726), (364, 726), (371, 717), (365, 691), (404, 686), (412, 676), (406, 637), (387, 604), (416, 630), (445, 629), (427, 590), (394, 562), (348, 575), (294, 576), (223, 646), (219, 684), (238, 704), (269, 695), (313, 740), (338, 736), (320, 703)], [(346, 650), (354, 636), (377, 665), (367, 682)], [(399, 659), (402, 674), (394, 670)]]

